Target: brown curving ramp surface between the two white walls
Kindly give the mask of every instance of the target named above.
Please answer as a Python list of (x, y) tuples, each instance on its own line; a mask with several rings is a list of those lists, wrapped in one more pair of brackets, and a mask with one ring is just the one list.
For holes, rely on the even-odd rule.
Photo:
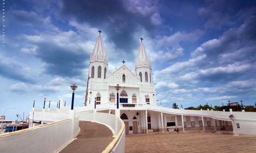
[[(61, 153), (101, 153), (114, 139), (111, 130), (105, 125), (80, 121), (80, 133)], [(64, 128), (64, 127), (63, 127)]]

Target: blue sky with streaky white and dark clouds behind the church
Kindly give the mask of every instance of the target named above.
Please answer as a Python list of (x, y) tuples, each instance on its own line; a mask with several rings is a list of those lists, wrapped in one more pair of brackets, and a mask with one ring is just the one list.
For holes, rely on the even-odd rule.
[[(28, 115), (43, 97), (82, 106), (98, 30), (109, 70), (134, 69), (140, 37), (152, 62), (157, 99), (171, 107), (256, 101), (256, 2), (162, 0), (6, 1), (0, 48), (0, 114)], [(56, 104), (52, 104), (54, 108)]]

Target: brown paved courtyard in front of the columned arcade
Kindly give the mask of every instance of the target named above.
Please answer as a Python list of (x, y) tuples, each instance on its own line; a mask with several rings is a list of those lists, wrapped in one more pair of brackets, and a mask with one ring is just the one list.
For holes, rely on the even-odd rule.
[(256, 153), (256, 136), (214, 133), (126, 135), (126, 153)]

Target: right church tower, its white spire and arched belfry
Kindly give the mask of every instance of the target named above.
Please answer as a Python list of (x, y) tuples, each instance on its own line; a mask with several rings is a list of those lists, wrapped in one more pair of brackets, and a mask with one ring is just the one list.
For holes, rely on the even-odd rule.
[(143, 39), (140, 39), (141, 43), (135, 63), (135, 72), (137, 77), (142, 82), (142, 85), (153, 85), (150, 59), (147, 57), (147, 53), (142, 42)]

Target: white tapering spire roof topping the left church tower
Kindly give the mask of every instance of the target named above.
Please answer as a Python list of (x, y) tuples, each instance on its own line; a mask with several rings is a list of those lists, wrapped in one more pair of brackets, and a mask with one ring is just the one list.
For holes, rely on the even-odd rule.
[(106, 55), (106, 51), (104, 48), (104, 43), (103, 43), (103, 39), (101, 37), (101, 35), (98, 35), (97, 39), (96, 39), (96, 43), (94, 46), (94, 50), (93, 53), (91, 53), (91, 58), (90, 60), (94, 60), (94, 59), (100, 59), (100, 60), (104, 60), (106, 62), (108, 62), (108, 56)]

